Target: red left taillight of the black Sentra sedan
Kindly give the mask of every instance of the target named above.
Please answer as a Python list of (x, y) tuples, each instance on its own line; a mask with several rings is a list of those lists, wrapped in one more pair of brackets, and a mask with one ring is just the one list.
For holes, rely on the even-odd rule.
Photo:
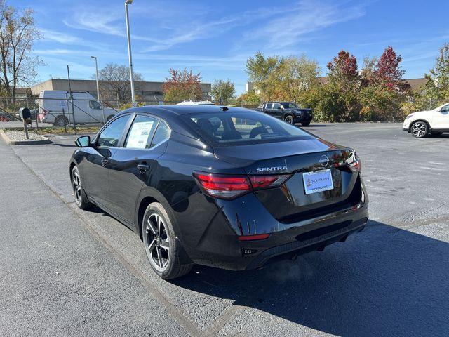
[(288, 175), (248, 177), (207, 172), (194, 172), (194, 177), (206, 194), (221, 199), (234, 199), (253, 190), (276, 187), (290, 178)]

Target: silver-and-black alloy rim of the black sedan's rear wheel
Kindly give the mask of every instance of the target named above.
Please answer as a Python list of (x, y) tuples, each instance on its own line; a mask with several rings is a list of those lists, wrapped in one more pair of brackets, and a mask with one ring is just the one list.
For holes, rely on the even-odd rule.
[(166, 224), (158, 213), (152, 213), (147, 220), (145, 248), (152, 267), (159, 272), (166, 270), (170, 258), (170, 237)]

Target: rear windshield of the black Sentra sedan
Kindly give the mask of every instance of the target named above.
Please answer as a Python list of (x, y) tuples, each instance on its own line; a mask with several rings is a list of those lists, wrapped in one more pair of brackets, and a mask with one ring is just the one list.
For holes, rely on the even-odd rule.
[(187, 121), (215, 145), (247, 145), (312, 138), (309, 133), (262, 112), (187, 114)]

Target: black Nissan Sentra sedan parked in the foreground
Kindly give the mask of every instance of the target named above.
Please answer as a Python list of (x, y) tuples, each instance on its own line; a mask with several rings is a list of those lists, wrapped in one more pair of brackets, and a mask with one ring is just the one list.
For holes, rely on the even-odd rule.
[(368, 221), (356, 152), (262, 112), (135, 107), (76, 145), (76, 205), (138, 233), (163, 279), (194, 264), (261, 267), (344, 242)]

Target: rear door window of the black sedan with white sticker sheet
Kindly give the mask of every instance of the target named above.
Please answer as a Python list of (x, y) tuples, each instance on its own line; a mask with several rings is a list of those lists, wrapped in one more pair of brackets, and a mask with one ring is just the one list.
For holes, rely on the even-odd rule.
[(149, 149), (157, 125), (157, 119), (138, 114), (129, 129), (124, 147)]

